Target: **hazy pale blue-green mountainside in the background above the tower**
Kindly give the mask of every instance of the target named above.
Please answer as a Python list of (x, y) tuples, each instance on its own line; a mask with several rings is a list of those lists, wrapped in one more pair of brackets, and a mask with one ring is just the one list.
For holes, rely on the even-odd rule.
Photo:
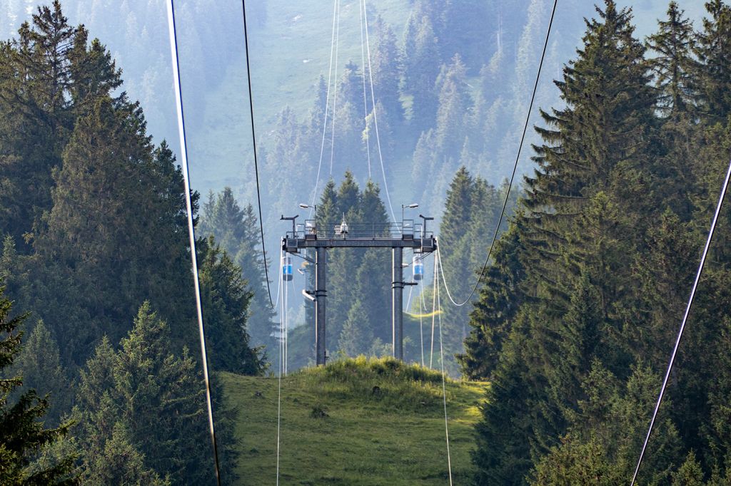
[[(664, 17), (667, 9), (664, 0), (618, 3), (632, 5), (636, 34), (640, 37), (654, 31), (656, 20)], [(698, 23), (702, 17), (702, 2), (680, 3), (687, 15)], [(374, 26), (380, 15), (393, 31), (403, 59), (413, 58), (412, 53), (403, 51), (409, 35), (409, 19), (424, 4), (433, 4), (437, 9), (432, 15), (443, 22), (442, 38), (435, 34), (437, 52), (427, 61), (421, 61), (418, 69), (439, 73), (440, 66), (444, 65), (445, 69), (449, 66), (452, 55), (461, 55), (466, 69), (466, 109), (488, 110), (480, 115), (488, 121), (469, 128), (470, 143), (476, 147), (474, 153), (465, 156), (462, 131), (457, 128), (456, 134), (447, 134), (452, 143), (442, 147), (439, 158), (431, 161), (436, 163), (437, 170), (422, 169), (418, 165), (417, 146), (421, 136), (429, 128), (435, 128), (436, 122), (417, 120), (417, 115), (409, 112), (412, 99), (408, 85), (402, 84), (400, 101), (405, 119), (400, 126), (390, 127), (390, 133), (389, 127), (381, 127), (385, 132), (382, 142), (390, 146), (385, 148), (383, 162), (397, 218), (398, 205), (413, 201), (420, 203), (417, 212), (439, 218), (447, 184), (460, 165), (468, 166), (472, 174), (494, 185), (510, 175), (551, 7), (548, 0), (368, 2), (371, 47), (379, 42), (379, 29)], [(118, 67), (124, 71), (124, 89), (131, 99), (138, 99), (145, 110), (148, 133), (156, 142), (167, 139), (177, 152), (165, 2), (66, 0), (63, 6), (69, 23), (85, 24), (90, 36), (102, 39), (111, 51)], [(254, 113), (257, 140), (262, 150), (262, 211), (270, 256), (278, 253), (279, 238), (287, 229), (279, 222), (279, 216), (303, 213), (297, 204), (310, 202), (312, 198), (322, 137), (321, 116), (318, 118), (321, 113), (313, 110), (317, 107), (319, 78), (327, 79), (328, 74), (333, 7), (333, 2), (314, 0), (247, 2)], [(20, 23), (29, 20), (34, 8), (34, 0), (3, 0), (1, 38), (15, 36)], [(537, 107), (560, 106), (558, 90), (551, 81), (560, 76), (561, 65), (574, 56), (585, 29), (583, 17), (591, 17), (594, 13), (590, 1), (559, 0), (531, 123), (537, 123)], [(218, 192), (230, 186), (241, 203), (255, 202), (241, 4), (239, 1), (177, 1), (176, 15), (183, 102), (189, 121), (192, 185), (204, 197), (211, 190)], [(360, 59), (358, 4), (341, 1), (338, 72), (333, 73), (333, 80), (341, 79), (349, 61), (360, 68)], [(480, 76), (482, 66), (492, 66), (490, 77)], [(360, 74), (357, 80), (360, 80)], [(376, 85), (378, 82), (376, 79)], [(362, 96), (362, 93), (355, 95)], [(333, 93), (330, 96), (332, 98)], [(375, 96), (376, 101), (380, 101), (379, 92), (376, 91)], [(330, 104), (332, 102), (331, 99)], [(318, 119), (319, 126), (313, 128)], [(362, 119), (356, 122), (363, 123)], [(385, 121), (381, 123), (386, 125)], [(344, 122), (336, 121), (338, 142), (343, 125)], [(292, 127), (299, 130), (301, 126), (308, 126), (308, 130), (298, 132), (296, 142), (295, 138), (283, 138), (287, 130)], [(328, 121), (319, 190), (331, 175), (327, 155), (330, 130)], [(373, 135), (371, 128), (372, 177), (382, 186), (383, 197), (383, 174), (375, 156)], [(302, 144), (303, 138), (307, 139), (308, 149), (295, 150), (289, 159), (279, 158), (278, 144), (285, 147)], [(537, 137), (529, 131), (531, 141), (536, 142)], [(422, 149), (433, 152), (428, 144)], [(531, 170), (530, 156), (531, 150), (523, 150), (520, 173)], [(336, 156), (332, 177), (340, 180), (346, 169), (354, 172), (362, 187), (365, 185), (368, 171), (363, 147), (344, 150), (340, 157)], [(428, 177), (425, 176), (427, 172)], [(486, 250), (490, 236), (485, 234), (477, 244), (484, 245)], [(276, 256), (272, 260), (276, 263)], [(303, 312), (300, 312), (298, 321), (303, 319)]]

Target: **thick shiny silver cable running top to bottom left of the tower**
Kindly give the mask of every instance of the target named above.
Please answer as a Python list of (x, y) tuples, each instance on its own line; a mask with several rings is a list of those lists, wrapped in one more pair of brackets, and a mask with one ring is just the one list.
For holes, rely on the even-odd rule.
[[(205, 382), (205, 404), (208, 406), (208, 428), (211, 431), (213, 444), (213, 461), (216, 466), (216, 483), (221, 486), (219, 468), (219, 449), (216, 445), (216, 429), (213, 427), (213, 405), (211, 404), (211, 381), (208, 379), (208, 356), (205, 352), (205, 328), (203, 326), (202, 304), (200, 302), (200, 282), (198, 282), (198, 260), (195, 254), (195, 228), (193, 225), (193, 207), (190, 199), (190, 174), (188, 170), (188, 144), (185, 139), (185, 117), (183, 116), (183, 94), (181, 88), (180, 66), (178, 65), (178, 37), (175, 31), (174, 0), (167, 4), (167, 28), (170, 32), (170, 55), (173, 58), (173, 85), (175, 85), (175, 108), (178, 112), (178, 135), (181, 141), (181, 163), (183, 166), (183, 182), (185, 184), (185, 204), (188, 213), (188, 236), (190, 239), (190, 259), (193, 269), (193, 285), (195, 289), (195, 309), (200, 333), (200, 354), (203, 365), (203, 381)], [(271, 298), (271, 296), (270, 296)]]

